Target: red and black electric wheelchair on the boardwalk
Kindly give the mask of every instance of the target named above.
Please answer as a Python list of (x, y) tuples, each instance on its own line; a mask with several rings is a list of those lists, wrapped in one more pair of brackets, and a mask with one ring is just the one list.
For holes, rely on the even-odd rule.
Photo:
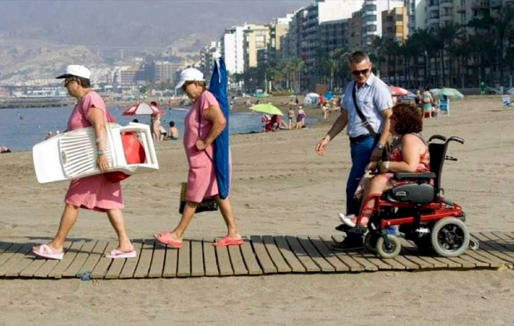
[[(464, 139), (434, 135), (429, 139), (430, 172), (395, 173), (394, 179), (416, 180), (415, 183), (398, 185), (376, 198), (367, 227), (361, 226), (363, 211), (357, 217), (356, 227), (347, 231), (366, 233), (364, 246), (382, 258), (393, 258), (400, 253), (398, 236), (387, 234), (386, 228), (398, 226), (399, 233), (411, 240), (420, 251), (443, 257), (461, 255), (468, 247), (478, 249), (478, 242), (471, 240), (462, 207), (444, 198), (441, 177), (445, 160), (457, 159), (446, 155), (448, 144)], [(433, 185), (429, 182), (433, 179)], [(365, 204), (365, 203), (364, 203)], [(363, 205), (365, 207), (365, 205)]]

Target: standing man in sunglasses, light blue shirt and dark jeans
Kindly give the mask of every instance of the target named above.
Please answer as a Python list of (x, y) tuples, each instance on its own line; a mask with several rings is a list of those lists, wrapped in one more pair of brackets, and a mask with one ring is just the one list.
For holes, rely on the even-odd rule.
[[(380, 160), (389, 137), (393, 99), (386, 83), (372, 73), (372, 63), (365, 52), (353, 52), (348, 57), (348, 67), (354, 81), (346, 85), (341, 115), (316, 144), (316, 153), (322, 156), (328, 142), (348, 127), (346, 133), (350, 137), (352, 169), (346, 183), (346, 214), (358, 214), (360, 204), (353, 203), (352, 198), (368, 163)], [(355, 102), (361, 114), (356, 110)], [(346, 250), (362, 245), (361, 234), (347, 232), (345, 240), (332, 248)]]

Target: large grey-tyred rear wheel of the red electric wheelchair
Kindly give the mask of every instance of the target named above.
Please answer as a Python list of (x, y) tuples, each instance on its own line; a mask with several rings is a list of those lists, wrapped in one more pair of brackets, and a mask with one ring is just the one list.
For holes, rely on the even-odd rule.
[(437, 255), (456, 257), (468, 248), (469, 230), (459, 219), (444, 218), (435, 223), (430, 239)]

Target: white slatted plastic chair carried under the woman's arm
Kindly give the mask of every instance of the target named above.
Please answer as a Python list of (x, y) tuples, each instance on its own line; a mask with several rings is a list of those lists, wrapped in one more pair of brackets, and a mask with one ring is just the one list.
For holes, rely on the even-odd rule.
[[(122, 133), (133, 133), (144, 149), (145, 161), (140, 164), (127, 164)], [(136, 172), (159, 169), (157, 155), (150, 127), (141, 123), (121, 126), (106, 124), (107, 144), (105, 156), (109, 172), (120, 171), (131, 175)], [(34, 169), (39, 183), (81, 178), (101, 174), (97, 167), (97, 144), (93, 127), (78, 129), (60, 134), (36, 144), (32, 149)]]

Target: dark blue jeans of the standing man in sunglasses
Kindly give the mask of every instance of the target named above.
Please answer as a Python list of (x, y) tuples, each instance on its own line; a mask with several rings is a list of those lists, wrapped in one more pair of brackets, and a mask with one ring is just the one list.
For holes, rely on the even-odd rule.
[[(377, 139), (378, 140), (378, 139)], [(346, 213), (359, 214), (360, 203), (353, 201), (353, 196), (359, 186), (360, 178), (364, 174), (366, 166), (370, 162), (371, 152), (376, 146), (373, 137), (364, 138), (363, 140), (350, 144), (350, 154), (352, 156), (352, 169), (346, 182)], [(364, 200), (364, 198), (362, 198)], [(386, 228), (386, 233), (396, 234), (396, 227), (390, 226)], [(350, 239), (359, 239), (361, 234), (347, 232), (346, 237)]]

